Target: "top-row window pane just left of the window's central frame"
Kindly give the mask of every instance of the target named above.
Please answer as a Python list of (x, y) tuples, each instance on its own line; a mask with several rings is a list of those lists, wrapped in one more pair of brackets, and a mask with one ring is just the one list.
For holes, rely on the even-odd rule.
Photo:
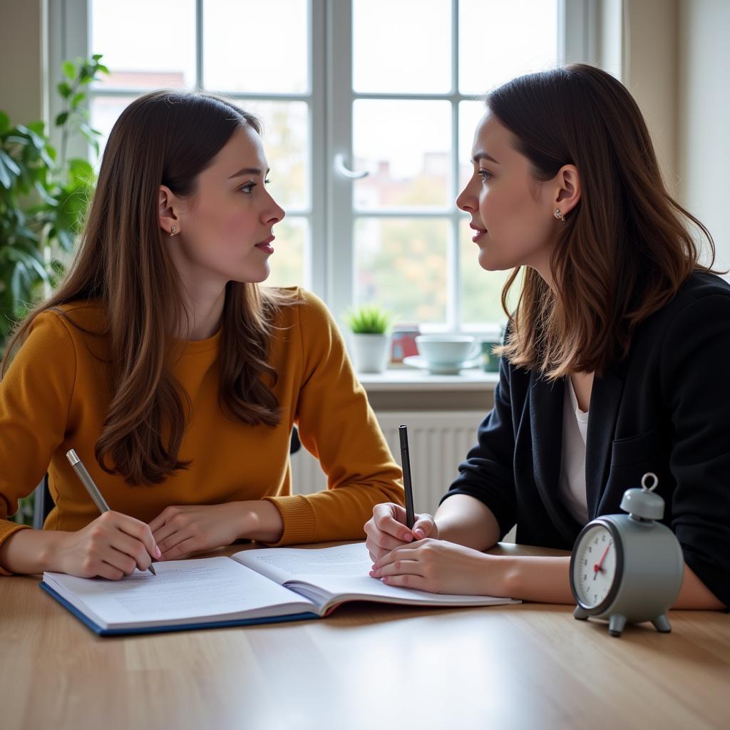
[(307, 0), (205, 0), (205, 88), (305, 93), (310, 85), (307, 6)]

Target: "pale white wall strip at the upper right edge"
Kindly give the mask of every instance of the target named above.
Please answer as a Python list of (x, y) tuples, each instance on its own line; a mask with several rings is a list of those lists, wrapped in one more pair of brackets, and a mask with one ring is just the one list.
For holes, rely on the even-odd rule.
[(677, 163), (680, 200), (730, 268), (730, 1), (680, 0)]

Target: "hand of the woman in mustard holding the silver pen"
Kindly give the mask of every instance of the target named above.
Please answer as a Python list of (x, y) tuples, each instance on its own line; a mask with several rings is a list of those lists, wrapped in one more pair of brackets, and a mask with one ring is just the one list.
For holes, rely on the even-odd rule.
[(82, 578), (119, 580), (135, 568), (147, 570), (160, 554), (146, 523), (110, 511), (77, 532), (64, 533), (53, 569)]

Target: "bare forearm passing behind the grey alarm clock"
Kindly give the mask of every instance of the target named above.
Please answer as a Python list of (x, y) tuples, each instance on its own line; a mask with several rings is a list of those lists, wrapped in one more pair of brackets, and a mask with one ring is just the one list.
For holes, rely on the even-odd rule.
[[(569, 557), (491, 556), (491, 558), (499, 561), (497, 573), (505, 596), (536, 603), (575, 603), (570, 590)], [(685, 565), (682, 589), (672, 608), (720, 610), (724, 607), (712, 591)]]

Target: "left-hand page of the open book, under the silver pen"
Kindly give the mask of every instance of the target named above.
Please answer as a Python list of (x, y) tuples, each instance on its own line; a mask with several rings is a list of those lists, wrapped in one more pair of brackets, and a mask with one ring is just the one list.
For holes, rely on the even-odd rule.
[[(279, 615), (300, 596), (225, 557), (155, 563), (157, 575), (135, 571), (121, 580), (46, 573), (44, 581), (101, 626), (194, 623), (232, 615)], [(278, 610), (278, 612), (277, 612)], [(252, 616), (253, 618), (253, 616)]]

